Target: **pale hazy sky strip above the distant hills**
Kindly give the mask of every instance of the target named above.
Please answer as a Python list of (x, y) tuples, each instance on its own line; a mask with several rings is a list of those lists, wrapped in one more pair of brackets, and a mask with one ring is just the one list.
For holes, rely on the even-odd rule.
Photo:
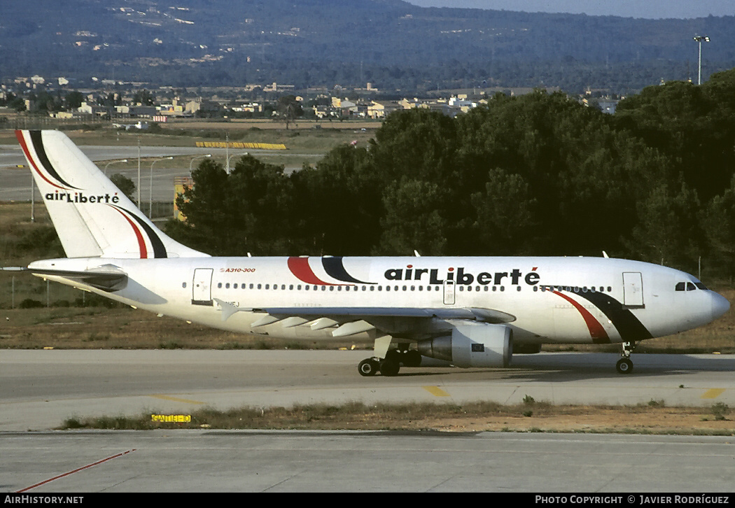
[(421, 7), (473, 7), (526, 12), (574, 12), (626, 18), (735, 15), (734, 0), (406, 0)]

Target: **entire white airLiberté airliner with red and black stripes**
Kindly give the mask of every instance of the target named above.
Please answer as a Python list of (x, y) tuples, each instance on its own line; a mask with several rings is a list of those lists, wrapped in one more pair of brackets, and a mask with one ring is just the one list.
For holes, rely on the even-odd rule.
[(233, 332), (374, 341), (363, 376), (506, 367), (544, 343), (620, 343), (630, 373), (639, 341), (730, 307), (688, 273), (607, 257), (210, 257), (161, 232), (61, 132), (16, 134), (68, 256), (30, 272)]

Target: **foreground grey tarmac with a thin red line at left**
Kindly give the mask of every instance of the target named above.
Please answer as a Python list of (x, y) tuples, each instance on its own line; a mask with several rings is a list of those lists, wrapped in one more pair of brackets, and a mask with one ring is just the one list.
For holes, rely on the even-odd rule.
[(592, 504), (636, 506), (632, 493), (731, 493), (735, 473), (733, 437), (712, 436), (0, 432), (0, 456), (0, 492), (26, 504), (48, 493), (488, 492), (612, 493)]

